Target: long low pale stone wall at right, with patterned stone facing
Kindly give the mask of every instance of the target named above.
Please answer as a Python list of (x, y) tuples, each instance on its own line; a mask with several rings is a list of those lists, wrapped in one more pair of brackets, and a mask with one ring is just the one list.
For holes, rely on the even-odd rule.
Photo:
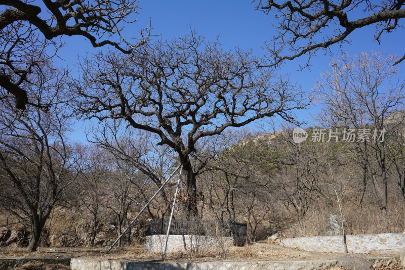
[[(348, 235), (346, 243), (349, 253), (405, 252), (405, 234)], [(279, 244), (307, 251), (344, 252), (342, 236), (285, 238)]]

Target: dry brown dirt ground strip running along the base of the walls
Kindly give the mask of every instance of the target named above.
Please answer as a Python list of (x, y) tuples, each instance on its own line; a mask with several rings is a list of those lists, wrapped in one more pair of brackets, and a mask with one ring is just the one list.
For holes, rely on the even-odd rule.
[[(120, 259), (133, 261), (161, 261), (161, 255), (158, 253), (146, 253), (143, 245), (134, 247), (113, 248), (106, 253), (107, 248), (39, 248), (37, 252), (27, 252), (24, 248), (0, 248), (1, 258), (73, 258), (83, 257), (92, 259)], [(219, 258), (215, 251), (204, 251), (202, 256), (195, 258), (191, 252), (178, 252), (168, 254), (167, 262), (206, 262), (206, 261), (288, 261), (288, 260), (328, 260), (337, 259), (341, 253), (318, 253), (301, 251), (293, 248), (281, 247), (276, 244), (265, 242), (255, 243), (245, 247), (231, 247), (228, 250), (226, 259)], [(384, 257), (397, 256), (398, 254), (369, 255), (369, 254), (350, 254), (359, 257)], [(28, 266), (28, 265), (27, 265)], [(61, 267), (61, 268), (60, 268)], [(69, 269), (63, 266), (45, 268), (37, 265), (21, 269)], [(399, 264), (392, 267), (378, 269), (403, 269)]]

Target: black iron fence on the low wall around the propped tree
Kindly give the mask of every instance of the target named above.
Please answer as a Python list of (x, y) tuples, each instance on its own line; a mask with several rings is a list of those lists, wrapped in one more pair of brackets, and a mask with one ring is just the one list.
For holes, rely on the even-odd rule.
[[(150, 224), (149, 235), (164, 235), (167, 233), (169, 219), (158, 219)], [(247, 223), (231, 221), (210, 221), (200, 219), (173, 219), (170, 228), (171, 235), (212, 235), (246, 237)]]

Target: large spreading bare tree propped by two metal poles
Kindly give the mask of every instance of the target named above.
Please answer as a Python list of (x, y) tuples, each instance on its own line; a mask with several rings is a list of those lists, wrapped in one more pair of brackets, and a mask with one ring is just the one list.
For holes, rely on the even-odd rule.
[(258, 68), (258, 61), (192, 33), (148, 43), (130, 57), (110, 51), (85, 59), (83, 76), (72, 87), (84, 117), (125, 119), (132, 128), (157, 134), (158, 145), (174, 149), (183, 165), (185, 209), (195, 214), (191, 201), (199, 169), (190, 155), (197, 141), (265, 117), (293, 121), (293, 110), (307, 105), (288, 78), (275, 78)]

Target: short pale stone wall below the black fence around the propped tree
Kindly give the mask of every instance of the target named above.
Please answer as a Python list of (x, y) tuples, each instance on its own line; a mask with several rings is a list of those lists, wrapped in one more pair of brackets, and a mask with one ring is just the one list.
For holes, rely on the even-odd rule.
[[(165, 248), (166, 235), (151, 235), (146, 237), (146, 252), (163, 252)], [(199, 250), (206, 250), (216, 247), (219, 243), (232, 246), (232, 237), (211, 237), (195, 235), (169, 235), (167, 252), (178, 252), (190, 250), (198, 244)]]

